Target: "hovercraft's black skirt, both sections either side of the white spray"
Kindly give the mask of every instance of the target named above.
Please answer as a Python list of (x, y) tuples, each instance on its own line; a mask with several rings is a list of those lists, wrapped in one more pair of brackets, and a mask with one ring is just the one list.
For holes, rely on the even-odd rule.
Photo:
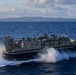
[[(59, 52), (64, 50), (64, 51), (71, 51), (71, 52), (76, 52), (76, 47), (72, 46), (72, 47), (60, 47), (60, 48), (55, 48), (56, 50), (58, 50)], [(28, 59), (33, 59), (35, 57), (38, 56), (38, 53), (40, 52), (45, 52), (43, 50), (36, 50), (36, 51), (30, 51), (30, 52), (17, 52), (17, 53), (6, 53), (6, 52), (3, 52), (3, 57), (5, 59), (8, 59), (8, 60), (13, 60), (13, 59), (16, 59), (16, 60), (28, 60)]]

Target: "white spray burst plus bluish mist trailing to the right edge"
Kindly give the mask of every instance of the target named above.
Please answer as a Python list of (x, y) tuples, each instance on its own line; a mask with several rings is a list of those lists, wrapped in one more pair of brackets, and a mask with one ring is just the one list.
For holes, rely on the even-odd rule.
[(55, 63), (62, 60), (69, 60), (69, 58), (76, 57), (76, 53), (64, 50), (56, 50), (54, 48), (47, 48), (44, 53), (39, 54), (40, 60), (43, 62)]

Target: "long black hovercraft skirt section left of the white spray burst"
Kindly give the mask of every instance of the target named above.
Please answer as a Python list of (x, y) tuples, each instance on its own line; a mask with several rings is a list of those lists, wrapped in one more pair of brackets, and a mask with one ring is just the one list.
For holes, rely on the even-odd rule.
[(28, 60), (36, 58), (38, 53), (41, 51), (35, 52), (19, 52), (19, 53), (5, 53), (3, 52), (3, 57), (7, 60)]

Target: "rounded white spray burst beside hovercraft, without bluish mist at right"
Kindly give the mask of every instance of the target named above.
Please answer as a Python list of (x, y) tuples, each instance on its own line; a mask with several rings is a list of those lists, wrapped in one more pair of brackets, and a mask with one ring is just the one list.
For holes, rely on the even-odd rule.
[[(40, 54), (40, 59), (43, 62), (57, 62), (58, 60), (62, 59), (60, 57), (59, 51), (55, 50), (54, 48), (48, 48), (44, 50), (43, 54)], [(58, 58), (59, 57), (59, 58)]]

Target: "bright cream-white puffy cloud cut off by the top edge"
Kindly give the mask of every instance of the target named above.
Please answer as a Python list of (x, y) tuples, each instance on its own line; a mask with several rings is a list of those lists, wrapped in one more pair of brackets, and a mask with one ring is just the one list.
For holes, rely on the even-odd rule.
[(53, 5), (54, 0), (23, 0), (24, 5), (31, 7), (48, 7)]

